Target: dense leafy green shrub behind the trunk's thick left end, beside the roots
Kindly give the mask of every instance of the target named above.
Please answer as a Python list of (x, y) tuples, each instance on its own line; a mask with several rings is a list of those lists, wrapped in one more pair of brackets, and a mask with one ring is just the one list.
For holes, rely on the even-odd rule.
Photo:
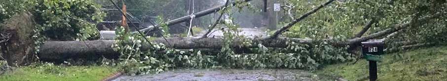
[(94, 23), (102, 21), (100, 5), (93, 0), (38, 0), (36, 20), (52, 40), (98, 39)]

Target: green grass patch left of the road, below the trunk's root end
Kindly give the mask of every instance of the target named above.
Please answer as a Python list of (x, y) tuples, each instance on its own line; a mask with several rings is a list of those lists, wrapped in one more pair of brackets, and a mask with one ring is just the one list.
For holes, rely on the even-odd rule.
[(0, 81), (100, 81), (117, 71), (109, 66), (34, 65), (0, 75)]

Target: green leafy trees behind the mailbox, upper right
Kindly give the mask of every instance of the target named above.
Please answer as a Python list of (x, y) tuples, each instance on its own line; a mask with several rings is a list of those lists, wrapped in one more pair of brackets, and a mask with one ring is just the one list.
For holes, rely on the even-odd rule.
[[(285, 0), (294, 4), (295, 14), (302, 14), (325, 0)], [(406, 44), (445, 41), (446, 1), (444, 0), (337, 0), (313, 16), (294, 25), (285, 36), (310, 39), (346, 39), (363, 29), (368, 21), (375, 21), (365, 35), (373, 34), (410, 21), (411, 27), (394, 33), (387, 40), (388, 47)], [(310, 7), (309, 7), (310, 6)], [(419, 18), (435, 16), (434, 19), (417, 21)], [(285, 21), (285, 20), (283, 20)], [(287, 23), (287, 21), (286, 21)], [(440, 36), (442, 35), (442, 36)], [(411, 42), (411, 43), (410, 43)], [(393, 44), (393, 46), (391, 46)], [(397, 46), (394, 46), (397, 45)]]

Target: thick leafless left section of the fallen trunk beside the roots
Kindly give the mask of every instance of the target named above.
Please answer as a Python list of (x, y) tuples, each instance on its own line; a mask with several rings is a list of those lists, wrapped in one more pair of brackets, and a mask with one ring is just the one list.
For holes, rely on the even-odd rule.
[(40, 60), (94, 58), (101, 56), (117, 58), (119, 53), (113, 51), (112, 48), (114, 42), (114, 40), (46, 41), (40, 45), (38, 57)]

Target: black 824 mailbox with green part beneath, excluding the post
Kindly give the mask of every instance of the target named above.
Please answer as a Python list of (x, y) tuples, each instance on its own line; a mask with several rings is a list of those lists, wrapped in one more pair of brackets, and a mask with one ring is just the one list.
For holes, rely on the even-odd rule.
[(380, 61), (381, 57), (379, 55), (384, 54), (384, 45), (381, 40), (362, 42), (362, 53), (367, 60)]

